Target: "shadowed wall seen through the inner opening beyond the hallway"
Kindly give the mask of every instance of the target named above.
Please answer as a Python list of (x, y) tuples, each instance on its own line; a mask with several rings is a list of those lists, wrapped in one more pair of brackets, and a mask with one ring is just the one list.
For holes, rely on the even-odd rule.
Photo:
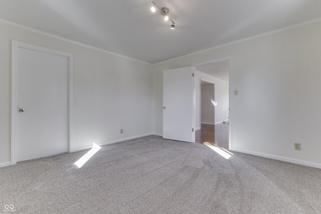
[(201, 123), (214, 125), (214, 84), (201, 84)]

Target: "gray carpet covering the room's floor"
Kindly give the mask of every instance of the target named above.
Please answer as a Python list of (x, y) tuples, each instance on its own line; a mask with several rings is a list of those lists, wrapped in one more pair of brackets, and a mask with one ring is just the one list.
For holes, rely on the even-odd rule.
[(0, 168), (0, 212), (321, 213), (320, 169), (158, 136), (87, 151)]

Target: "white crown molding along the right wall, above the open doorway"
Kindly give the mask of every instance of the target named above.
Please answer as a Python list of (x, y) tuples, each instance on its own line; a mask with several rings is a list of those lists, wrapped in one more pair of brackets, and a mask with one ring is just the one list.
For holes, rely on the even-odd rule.
[(258, 34), (258, 35), (255, 35), (255, 36), (247, 37), (247, 38), (244, 38), (244, 39), (236, 40), (236, 41), (233, 41), (233, 42), (230, 42), (230, 43), (225, 43), (225, 44), (218, 45), (218, 46), (215, 46), (215, 47), (212, 47), (212, 48), (204, 49), (204, 50), (193, 52), (193, 53), (190, 53), (190, 54), (186, 54), (186, 55), (183, 55), (183, 56), (180, 56), (180, 57), (175, 57), (175, 58), (172, 58), (172, 59), (169, 59), (169, 60), (165, 60), (165, 61), (162, 61), (162, 62), (154, 63), (153, 65), (159, 65), (159, 64), (167, 63), (167, 62), (170, 62), (170, 61), (173, 61), (173, 60), (178, 60), (178, 59), (182, 59), (184, 57), (193, 56), (193, 55), (196, 55), (196, 54), (201, 54), (201, 53), (204, 53), (204, 52), (212, 51), (212, 50), (215, 50), (215, 49), (223, 48), (223, 47), (226, 47), (226, 46), (234, 45), (234, 44), (245, 42), (245, 41), (248, 41), (248, 40), (257, 39), (257, 38), (268, 36), (268, 35), (271, 35), (271, 34), (276, 34), (276, 33), (279, 33), (279, 32), (291, 30), (291, 29), (298, 28), (298, 27), (301, 27), (301, 26), (310, 25), (310, 24), (317, 23), (317, 22), (321, 22), (321, 18), (313, 19), (313, 20), (310, 20), (310, 21), (307, 21), (307, 22), (301, 22), (301, 23), (298, 23), (298, 24), (295, 24), (295, 25), (290, 25), (290, 26), (287, 26), (287, 27), (284, 27), (284, 28), (280, 28), (280, 29), (277, 29), (277, 30), (273, 30), (273, 31), (265, 32), (265, 33)]

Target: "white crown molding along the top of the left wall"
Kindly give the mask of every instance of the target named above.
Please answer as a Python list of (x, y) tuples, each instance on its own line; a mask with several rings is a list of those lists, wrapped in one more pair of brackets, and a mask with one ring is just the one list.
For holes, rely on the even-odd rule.
[(69, 39), (57, 36), (55, 34), (50, 34), (50, 33), (47, 33), (47, 32), (43, 32), (43, 31), (37, 30), (35, 28), (24, 26), (24, 25), (21, 25), (21, 24), (18, 24), (18, 23), (14, 23), (14, 22), (5, 20), (5, 19), (0, 19), (0, 22), (2, 22), (4, 24), (7, 24), (7, 25), (11, 25), (11, 26), (17, 27), (17, 28), (24, 29), (24, 30), (27, 30), (27, 31), (38, 33), (38, 34), (41, 34), (41, 35), (44, 35), (44, 36), (48, 36), (48, 37), (51, 37), (51, 38), (55, 38), (55, 39), (58, 39), (58, 40), (69, 42), (69, 43), (72, 43), (72, 44), (75, 44), (75, 45), (79, 45), (79, 46), (82, 46), (82, 47), (85, 47), (85, 48), (89, 48), (89, 49), (93, 49), (93, 50), (96, 50), (96, 51), (100, 51), (100, 52), (103, 52), (103, 53), (106, 53), (106, 54), (111, 54), (111, 55), (114, 55), (114, 56), (117, 56), (117, 57), (125, 58), (125, 59), (128, 59), (128, 60), (133, 60), (133, 61), (144, 63), (144, 64), (147, 64), (147, 65), (152, 65), (151, 63), (147, 63), (145, 61), (137, 60), (137, 59), (134, 59), (134, 58), (131, 58), (131, 57), (127, 57), (127, 56), (124, 56), (124, 55), (121, 55), (121, 54), (117, 54), (117, 53), (114, 53), (114, 52), (111, 52), (111, 51), (106, 51), (104, 49), (96, 48), (96, 47), (93, 47), (93, 46), (90, 46), (90, 45), (86, 45), (86, 44), (83, 44), (83, 43), (80, 43), (80, 42), (76, 42), (74, 40), (69, 40)]

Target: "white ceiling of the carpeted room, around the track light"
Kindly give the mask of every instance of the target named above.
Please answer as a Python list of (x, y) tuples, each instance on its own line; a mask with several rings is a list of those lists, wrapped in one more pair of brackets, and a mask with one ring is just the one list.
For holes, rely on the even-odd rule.
[(0, 0), (0, 18), (157, 63), (321, 16), (319, 0)]

